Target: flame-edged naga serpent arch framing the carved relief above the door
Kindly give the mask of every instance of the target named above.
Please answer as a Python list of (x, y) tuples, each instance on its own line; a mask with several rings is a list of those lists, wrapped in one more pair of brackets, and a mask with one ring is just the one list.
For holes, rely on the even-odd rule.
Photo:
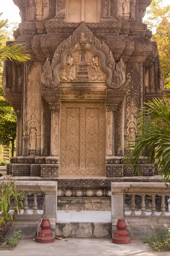
[(90, 50), (99, 56), (99, 67), (107, 74), (106, 84), (111, 89), (119, 89), (125, 84), (125, 66), (122, 59), (114, 60), (111, 49), (104, 41), (96, 38), (85, 22), (57, 47), (51, 61), (47, 58), (43, 66), (42, 84), (47, 88), (57, 88), (60, 83), (60, 70), (67, 64), (67, 56), (76, 50)]

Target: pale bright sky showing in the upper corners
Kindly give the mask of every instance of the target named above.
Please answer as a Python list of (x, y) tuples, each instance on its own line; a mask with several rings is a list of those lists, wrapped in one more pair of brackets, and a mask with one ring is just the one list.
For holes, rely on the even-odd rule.
[[(164, 5), (170, 3), (170, 0), (163, 0)], [(0, 0), (0, 12), (3, 12), (3, 19), (9, 22), (21, 22), (19, 9), (14, 5), (13, 0)]]

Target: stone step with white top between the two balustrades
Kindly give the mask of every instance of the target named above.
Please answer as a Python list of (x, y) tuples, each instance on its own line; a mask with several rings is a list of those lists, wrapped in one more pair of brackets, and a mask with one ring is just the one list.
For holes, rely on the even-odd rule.
[(111, 212), (57, 211), (56, 236), (58, 237), (111, 237), (111, 230)]

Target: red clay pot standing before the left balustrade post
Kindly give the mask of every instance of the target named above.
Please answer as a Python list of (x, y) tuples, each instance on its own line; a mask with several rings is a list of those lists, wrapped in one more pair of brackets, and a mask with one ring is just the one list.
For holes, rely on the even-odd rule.
[(55, 239), (53, 237), (52, 231), (50, 230), (51, 224), (49, 219), (43, 218), (40, 227), (41, 230), (36, 237), (36, 242), (42, 244), (53, 243)]

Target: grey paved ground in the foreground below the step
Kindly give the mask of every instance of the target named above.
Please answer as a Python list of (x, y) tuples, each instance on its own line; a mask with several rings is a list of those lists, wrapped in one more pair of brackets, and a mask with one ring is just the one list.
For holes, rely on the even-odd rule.
[(0, 250), (2, 256), (169, 256), (170, 252), (155, 253), (141, 240), (131, 244), (113, 244), (111, 239), (55, 240), (38, 244), (32, 239), (21, 240), (13, 251)]

